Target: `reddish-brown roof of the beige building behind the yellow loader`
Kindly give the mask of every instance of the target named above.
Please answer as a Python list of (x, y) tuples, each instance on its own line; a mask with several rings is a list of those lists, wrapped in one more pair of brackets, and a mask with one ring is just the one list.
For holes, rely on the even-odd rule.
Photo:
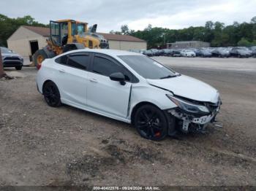
[[(23, 27), (41, 36), (50, 36), (50, 28), (39, 27), (39, 26), (23, 26)], [(135, 36), (121, 35), (121, 34), (106, 34), (106, 33), (98, 33), (98, 34), (101, 34), (107, 40), (127, 41), (127, 42), (146, 42), (143, 39), (139, 39)]]

